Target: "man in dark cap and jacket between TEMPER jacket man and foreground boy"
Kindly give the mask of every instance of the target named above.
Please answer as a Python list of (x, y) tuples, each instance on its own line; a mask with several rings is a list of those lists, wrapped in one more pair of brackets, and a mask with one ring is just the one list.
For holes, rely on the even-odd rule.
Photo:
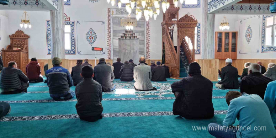
[(82, 60), (77, 60), (77, 65), (72, 67), (71, 77), (74, 82), (74, 86), (77, 86), (80, 82), (82, 82), (83, 78), (81, 77), (82, 72)]

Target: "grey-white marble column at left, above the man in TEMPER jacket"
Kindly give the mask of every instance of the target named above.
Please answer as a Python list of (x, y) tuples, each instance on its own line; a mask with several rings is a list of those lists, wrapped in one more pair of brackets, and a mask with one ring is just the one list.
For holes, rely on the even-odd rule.
[(58, 10), (50, 11), (52, 58), (65, 59), (64, 42), (64, 1), (58, 1)]

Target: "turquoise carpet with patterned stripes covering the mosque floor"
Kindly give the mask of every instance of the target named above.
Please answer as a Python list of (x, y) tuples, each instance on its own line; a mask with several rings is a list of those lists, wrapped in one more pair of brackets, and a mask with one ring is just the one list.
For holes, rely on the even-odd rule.
[[(0, 101), (10, 103), (12, 111), (0, 119), (2, 138), (213, 138), (207, 130), (211, 122), (222, 123), (228, 105), (229, 90), (213, 87), (215, 116), (212, 119), (191, 120), (172, 114), (174, 95), (170, 85), (178, 81), (152, 82), (157, 91), (135, 91), (134, 82), (115, 79), (116, 91), (103, 93), (103, 119), (86, 122), (78, 118), (76, 98), (56, 102), (49, 96), (46, 83), (31, 83), (28, 93), (0, 95)], [(71, 88), (75, 91), (75, 87)], [(238, 90), (239, 91), (239, 90)], [(238, 122), (236, 121), (236, 124)]]

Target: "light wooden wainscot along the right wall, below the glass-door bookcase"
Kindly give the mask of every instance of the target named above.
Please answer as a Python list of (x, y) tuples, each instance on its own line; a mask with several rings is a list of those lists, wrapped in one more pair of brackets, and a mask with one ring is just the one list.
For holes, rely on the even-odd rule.
[[(241, 75), (243, 68), (244, 68), (244, 63), (250, 62), (250, 63), (257, 63), (257, 61), (261, 61), (263, 63), (263, 66), (267, 69), (269, 63), (276, 63), (276, 59), (237, 59), (233, 60), (232, 65), (235, 66), (238, 71), (239, 75)], [(219, 61), (219, 69), (225, 67), (225, 60), (220, 60)]]

